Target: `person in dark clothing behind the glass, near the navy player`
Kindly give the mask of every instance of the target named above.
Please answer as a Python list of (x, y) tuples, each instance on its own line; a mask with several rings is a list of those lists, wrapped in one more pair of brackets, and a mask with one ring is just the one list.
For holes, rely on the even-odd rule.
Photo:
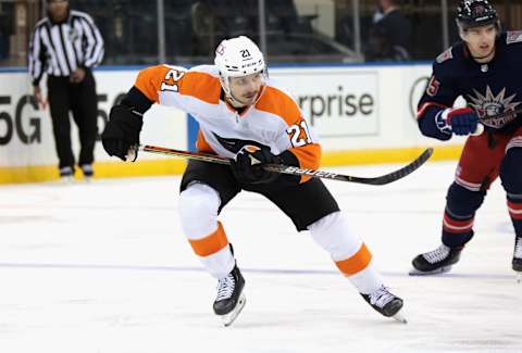
[(377, 10), (369, 31), (366, 61), (410, 59), (411, 24), (395, 0), (376, 0)]

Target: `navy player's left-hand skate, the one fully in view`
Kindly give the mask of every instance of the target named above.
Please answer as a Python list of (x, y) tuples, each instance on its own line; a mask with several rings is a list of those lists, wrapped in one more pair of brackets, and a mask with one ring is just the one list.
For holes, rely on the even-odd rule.
[(442, 244), (433, 251), (418, 255), (411, 264), (410, 276), (444, 274), (451, 269), (460, 259), (462, 248), (449, 248)]

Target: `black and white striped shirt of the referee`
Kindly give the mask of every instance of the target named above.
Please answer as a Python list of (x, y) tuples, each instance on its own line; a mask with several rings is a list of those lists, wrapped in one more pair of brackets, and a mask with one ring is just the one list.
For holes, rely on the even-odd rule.
[(66, 21), (49, 17), (36, 24), (29, 42), (28, 70), (33, 85), (41, 76), (70, 76), (78, 67), (94, 67), (103, 59), (103, 38), (92, 18), (71, 10)]

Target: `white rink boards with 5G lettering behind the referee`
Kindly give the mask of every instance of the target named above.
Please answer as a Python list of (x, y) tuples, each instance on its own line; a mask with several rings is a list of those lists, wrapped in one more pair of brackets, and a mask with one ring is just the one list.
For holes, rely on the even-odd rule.
[[(95, 72), (100, 116), (109, 116), (110, 108), (116, 98), (133, 87), (136, 74), (137, 71)], [(40, 87), (47, 93), (45, 80)], [(13, 127), (9, 142), (0, 146), (0, 167), (58, 164), (49, 109), (41, 111), (34, 109), (29, 103), (24, 105), (26, 101), (24, 97), (32, 92), (33, 88), (26, 73), (0, 73), (0, 102), (10, 101), (9, 104), (0, 104), (0, 114), (2, 114), (0, 115), (0, 140), (7, 139), (10, 126)], [(20, 125), (24, 134), (34, 134), (35, 126), (38, 126), (39, 138), (32, 143), (22, 142), (17, 136), (15, 116), (18, 104), (23, 105)], [(8, 115), (9, 117), (7, 117)], [(141, 141), (185, 149), (187, 146), (185, 116), (185, 113), (181, 111), (154, 105), (145, 115), (146, 123), (141, 133)], [(8, 123), (7, 119), (10, 122)], [(72, 126), (73, 149), (77, 154), (79, 151), (77, 130), (74, 123)], [(101, 117), (98, 119), (98, 127), (100, 131), (103, 129)], [(97, 143), (95, 154), (97, 161), (111, 160), (103, 151), (101, 143)], [(141, 153), (139, 157), (140, 160), (157, 160), (161, 156)]]

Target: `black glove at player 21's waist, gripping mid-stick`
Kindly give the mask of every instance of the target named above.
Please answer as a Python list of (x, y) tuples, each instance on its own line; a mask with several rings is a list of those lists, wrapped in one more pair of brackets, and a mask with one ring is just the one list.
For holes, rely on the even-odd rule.
[(277, 155), (268, 147), (244, 146), (231, 161), (232, 173), (243, 184), (268, 184), (279, 176), (278, 173), (263, 169), (263, 164), (281, 164)]

